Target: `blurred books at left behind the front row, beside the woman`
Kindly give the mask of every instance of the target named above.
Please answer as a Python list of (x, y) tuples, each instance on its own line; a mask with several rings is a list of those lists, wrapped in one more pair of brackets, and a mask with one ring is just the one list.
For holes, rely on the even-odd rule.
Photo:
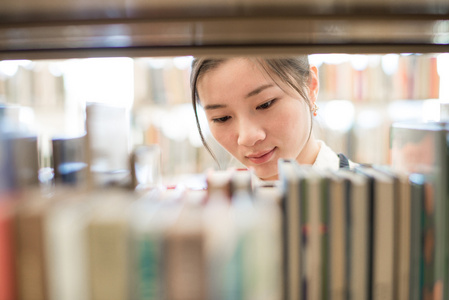
[(21, 110), (26, 108), (0, 105), (0, 190), (39, 182), (127, 184), (134, 173), (143, 175), (143, 170), (148, 183), (160, 181), (162, 175), (201, 173), (206, 163), (214, 164), (202, 147), (193, 147), (188, 139), (172, 140), (154, 126), (141, 143), (132, 141), (135, 132), (130, 129), (129, 112), (122, 107), (88, 104), (82, 133), (52, 136), (21, 127), (20, 113), (10, 113)]

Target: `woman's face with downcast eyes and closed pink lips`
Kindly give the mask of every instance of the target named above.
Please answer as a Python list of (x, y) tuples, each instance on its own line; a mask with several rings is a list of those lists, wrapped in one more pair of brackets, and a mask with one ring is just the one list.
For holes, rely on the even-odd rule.
[[(316, 82), (316, 91), (309, 90), (312, 102), (317, 88)], [(281, 89), (255, 62), (227, 60), (205, 73), (197, 89), (214, 138), (259, 178), (277, 179), (279, 158), (313, 163), (301, 161), (310, 156), (305, 153), (310, 148), (309, 106), (293, 89)]]

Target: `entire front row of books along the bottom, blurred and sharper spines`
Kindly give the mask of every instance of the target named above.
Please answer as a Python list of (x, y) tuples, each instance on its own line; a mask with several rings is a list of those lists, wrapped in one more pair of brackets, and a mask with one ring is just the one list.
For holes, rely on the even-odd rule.
[(431, 176), (279, 170), (211, 171), (198, 190), (3, 193), (0, 299), (447, 298)]

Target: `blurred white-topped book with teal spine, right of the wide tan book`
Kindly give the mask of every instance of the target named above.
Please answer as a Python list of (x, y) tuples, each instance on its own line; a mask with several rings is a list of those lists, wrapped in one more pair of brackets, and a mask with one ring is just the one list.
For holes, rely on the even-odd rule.
[(178, 219), (182, 192), (152, 190), (130, 208), (130, 299), (164, 299), (164, 242)]

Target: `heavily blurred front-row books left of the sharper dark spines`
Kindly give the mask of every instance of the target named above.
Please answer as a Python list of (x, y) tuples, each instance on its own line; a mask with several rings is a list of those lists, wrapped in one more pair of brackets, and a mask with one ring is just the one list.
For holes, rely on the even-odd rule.
[(281, 299), (280, 194), (238, 173), (2, 194), (0, 299)]

